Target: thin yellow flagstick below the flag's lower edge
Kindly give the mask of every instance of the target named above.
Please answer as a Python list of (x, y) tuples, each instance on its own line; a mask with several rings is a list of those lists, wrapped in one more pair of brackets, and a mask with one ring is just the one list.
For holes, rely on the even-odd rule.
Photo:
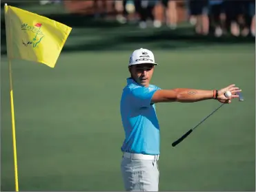
[(12, 89), (12, 68), (11, 68), (10, 59), (8, 59), (8, 63), (9, 63), (9, 74), (10, 74), (10, 106), (11, 106), (11, 114), (12, 114), (12, 143), (13, 143), (13, 155), (14, 155), (15, 190), (19, 191), (14, 103), (13, 103), (13, 89)]

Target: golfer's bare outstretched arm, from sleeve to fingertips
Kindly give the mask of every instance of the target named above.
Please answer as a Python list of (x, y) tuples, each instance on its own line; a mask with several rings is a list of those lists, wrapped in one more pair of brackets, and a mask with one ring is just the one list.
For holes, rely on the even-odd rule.
[[(226, 91), (231, 92), (231, 96), (226, 98), (224, 93)], [(164, 102), (181, 102), (181, 103), (193, 103), (200, 100), (217, 99), (221, 103), (230, 103), (232, 98), (238, 98), (238, 92), (241, 89), (235, 87), (235, 85), (229, 85), (223, 89), (216, 90), (201, 90), (201, 89), (161, 89), (157, 90), (152, 96), (152, 103), (164, 103)], [(217, 97), (216, 97), (217, 94)]]

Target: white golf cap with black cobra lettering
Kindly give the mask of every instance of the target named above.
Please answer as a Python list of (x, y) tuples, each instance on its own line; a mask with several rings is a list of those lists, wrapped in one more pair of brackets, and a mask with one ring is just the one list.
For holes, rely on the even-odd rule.
[(139, 50), (132, 52), (128, 65), (138, 65), (143, 63), (152, 63), (154, 65), (158, 65), (155, 63), (155, 56), (150, 50), (140, 48)]

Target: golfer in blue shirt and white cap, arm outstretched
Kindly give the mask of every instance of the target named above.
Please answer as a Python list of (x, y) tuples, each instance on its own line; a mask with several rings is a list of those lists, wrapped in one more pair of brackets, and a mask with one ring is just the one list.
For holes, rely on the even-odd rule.
[[(154, 72), (154, 54), (150, 50), (139, 49), (132, 52), (128, 64), (130, 77), (121, 96), (121, 120), (125, 139), (121, 146), (123, 158), (121, 173), (126, 191), (159, 190), (159, 124), (155, 103), (192, 103), (215, 99), (220, 103), (231, 103), (241, 92), (235, 85), (223, 89), (160, 89), (150, 84)], [(224, 92), (232, 96), (226, 98)]]

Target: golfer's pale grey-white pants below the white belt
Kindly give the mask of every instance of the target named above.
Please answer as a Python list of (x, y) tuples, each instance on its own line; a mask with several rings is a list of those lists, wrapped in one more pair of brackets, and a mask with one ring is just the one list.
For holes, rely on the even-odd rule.
[(121, 173), (126, 191), (158, 191), (158, 160), (123, 158)]

